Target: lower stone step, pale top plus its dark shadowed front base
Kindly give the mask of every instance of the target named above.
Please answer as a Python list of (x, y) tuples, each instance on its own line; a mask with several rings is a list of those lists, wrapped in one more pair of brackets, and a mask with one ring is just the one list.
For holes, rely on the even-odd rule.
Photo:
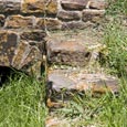
[[(63, 99), (62, 95), (64, 95), (65, 100), (70, 100), (72, 94), (85, 93), (98, 96), (106, 93), (117, 94), (119, 92), (118, 78), (115, 76), (100, 72), (86, 73), (83, 68), (51, 70), (47, 78), (47, 85), (50, 86), (47, 96), (52, 100)], [(59, 107), (56, 103), (54, 105)]]

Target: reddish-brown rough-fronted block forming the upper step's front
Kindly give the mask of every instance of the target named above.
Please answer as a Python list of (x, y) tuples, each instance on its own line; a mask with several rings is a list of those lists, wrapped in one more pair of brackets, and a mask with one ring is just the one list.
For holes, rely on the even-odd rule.
[(91, 53), (76, 41), (51, 40), (47, 44), (49, 62), (84, 66), (88, 62)]

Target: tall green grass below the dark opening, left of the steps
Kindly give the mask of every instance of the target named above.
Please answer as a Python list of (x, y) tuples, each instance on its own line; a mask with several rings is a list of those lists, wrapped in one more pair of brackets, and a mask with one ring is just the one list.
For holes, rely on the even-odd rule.
[(44, 127), (44, 85), (20, 75), (0, 88), (0, 127)]

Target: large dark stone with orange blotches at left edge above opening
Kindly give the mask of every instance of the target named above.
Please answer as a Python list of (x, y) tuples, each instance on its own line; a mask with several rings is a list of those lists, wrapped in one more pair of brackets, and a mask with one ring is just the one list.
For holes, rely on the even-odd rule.
[(18, 34), (12, 31), (0, 31), (0, 65), (10, 66), (18, 44)]

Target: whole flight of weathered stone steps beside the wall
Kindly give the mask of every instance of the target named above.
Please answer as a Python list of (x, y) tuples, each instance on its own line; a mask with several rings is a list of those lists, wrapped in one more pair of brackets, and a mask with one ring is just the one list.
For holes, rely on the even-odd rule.
[(103, 34), (103, 31), (89, 28), (49, 33), (47, 106), (51, 112), (46, 127), (72, 127), (71, 123), (78, 123), (78, 118), (70, 121), (57, 118), (54, 113), (72, 99), (72, 94), (98, 97), (105, 93), (118, 93), (118, 80), (108, 75), (98, 62), (105, 49)]

